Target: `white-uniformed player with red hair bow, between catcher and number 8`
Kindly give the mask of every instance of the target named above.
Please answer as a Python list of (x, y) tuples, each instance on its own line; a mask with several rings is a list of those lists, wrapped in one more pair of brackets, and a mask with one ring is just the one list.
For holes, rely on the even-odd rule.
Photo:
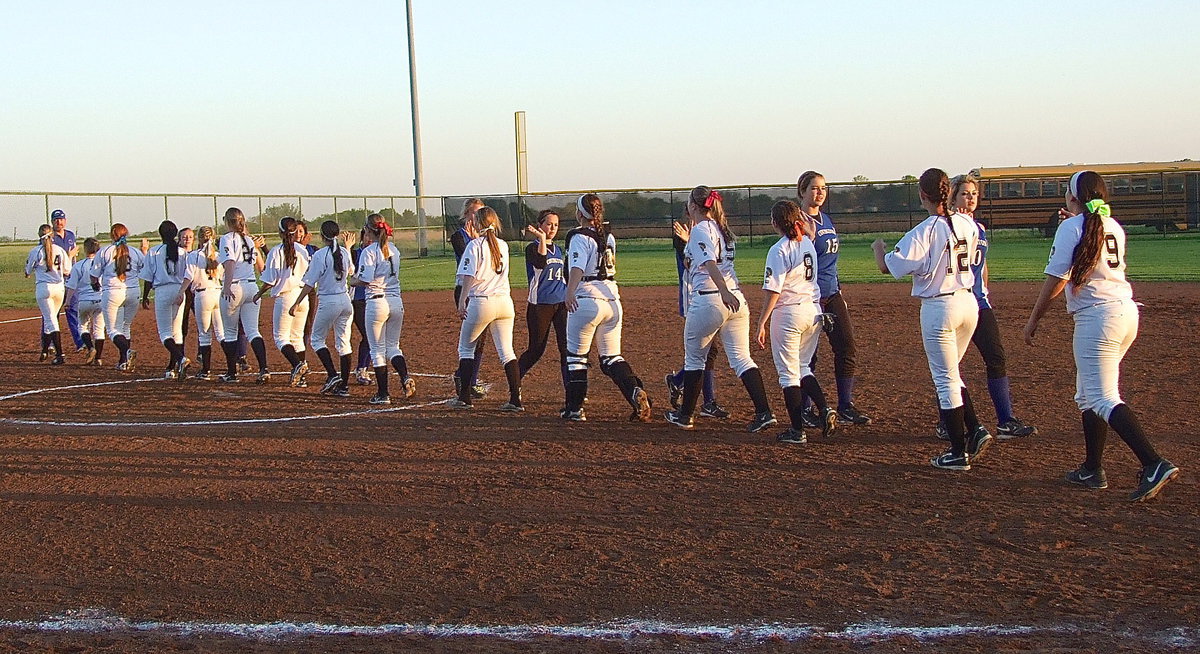
[(742, 379), (754, 402), (755, 416), (746, 431), (757, 433), (776, 422), (767, 403), (762, 372), (750, 358), (750, 307), (733, 270), (736, 236), (725, 220), (721, 194), (707, 186), (692, 188), (688, 215), (695, 227), (684, 250), (688, 266), (688, 316), (684, 319), (683, 398), (678, 410), (666, 413), (667, 422), (690, 430), (700, 398), (704, 360), (718, 335), (733, 373)]

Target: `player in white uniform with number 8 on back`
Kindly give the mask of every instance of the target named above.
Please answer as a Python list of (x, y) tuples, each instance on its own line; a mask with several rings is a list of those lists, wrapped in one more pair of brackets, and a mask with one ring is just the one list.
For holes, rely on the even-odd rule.
[(770, 222), (780, 239), (767, 252), (762, 288), (766, 296), (758, 317), (758, 347), (767, 347), (770, 320), (770, 354), (784, 388), (784, 402), (791, 427), (779, 434), (780, 443), (808, 443), (804, 436), (804, 406), (817, 407), (821, 434), (838, 428), (838, 412), (826, 403), (821, 384), (812, 374), (812, 354), (821, 336), (821, 287), (817, 284), (817, 223), (791, 200), (770, 208)]

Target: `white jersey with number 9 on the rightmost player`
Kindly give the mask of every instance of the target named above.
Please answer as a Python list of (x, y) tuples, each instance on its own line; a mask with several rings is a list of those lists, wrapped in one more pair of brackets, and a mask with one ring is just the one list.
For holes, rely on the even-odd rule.
[[(1050, 263), (1046, 275), (1068, 280), (1070, 277), (1070, 258), (1075, 246), (1084, 235), (1082, 214), (1074, 215), (1058, 226), (1050, 247)], [(1067, 312), (1087, 308), (1103, 302), (1133, 299), (1133, 287), (1124, 277), (1124, 229), (1112, 218), (1100, 218), (1104, 226), (1104, 245), (1100, 247), (1100, 260), (1087, 274), (1087, 281), (1081, 287), (1067, 282)]]

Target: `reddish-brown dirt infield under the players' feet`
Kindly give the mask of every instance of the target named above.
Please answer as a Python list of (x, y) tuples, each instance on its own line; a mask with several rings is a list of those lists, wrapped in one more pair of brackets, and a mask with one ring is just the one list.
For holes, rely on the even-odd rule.
[[(1126, 502), (1138, 464), (1115, 433), (1109, 490), (1061, 481), (1082, 458), (1070, 326), (1060, 302), (1039, 346), (1020, 343), (1031, 283), (997, 284), (994, 298), (1015, 413), (1042, 433), (998, 444), (970, 473), (928, 464), (941, 446), (932, 384), (918, 304), (901, 284), (846, 289), (857, 403), (875, 424), (832, 440), (810, 433), (806, 446), (745, 433), (750, 404), (727, 367), (718, 384), (728, 421), (684, 432), (655, 409), (653, 424), (629, 424), (594, 366), (588, 421), (564, 424), (553, 346), (527, 378), (518, 416), (494, 409), (506, 394), (490, 352), (482, 378), (494, 394), (472, 412), (397, 403), (318, 420), (125, 426), (367, 412), (370, 390), (326, 398), (319, 384), (146, 380), (10, 398), (131, 377), (71, 356), (62, 367), (37, 364), (37, 320), (0, 324), (0, 649), (1198, 648), (1200, 287), (1135, 290), (1146, 307), (1123, 395), (1183, 469), (1145, 505)], [(662, 376), (682, 359), (674, 289), (623, 295), (625, 356), (661, 408)], [(757, 317), (758, 292), (748, 295)], [(449, 373), (458, 325), (449, 293), (409, 293), (404, 304), (412, 368)], [(146, 377), (166, 356), (152, 323), (143, 311), (134, 329)], [(832, 395), (826, 343), (821, 353)], [(755, 358), (786, 415), (769, 354)], [(973, 349), (964, 371), (994, 425)], [(418, 404), (451, 391), (446, 378), (419, 384)], [(38, 622), (62, 617), (92, 619)], [(247, 638), (216, 623), (287, 623), (292, 634)], [(485, 629), (448, 636), (437, 625)], [(618, 626), (598, 636), (604, 625)], [(970, 629), (932, 629), (959, 625)], [(515, 626), (545, 630), (499, 632)], [(564, 626), (576, 631), (552, 629)]]

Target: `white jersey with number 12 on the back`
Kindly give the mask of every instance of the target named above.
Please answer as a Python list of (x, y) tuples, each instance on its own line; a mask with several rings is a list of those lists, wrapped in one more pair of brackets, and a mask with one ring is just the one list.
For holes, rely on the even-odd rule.
[(970, 216), (950, 216), (954, 230), (943, 216), (930, 216), (908, 230), (884, 256), (895, 278), (912, 275), (917, 298), (949, 295), (974, 286), (971, 263), (979, 245), (979, 228)]

